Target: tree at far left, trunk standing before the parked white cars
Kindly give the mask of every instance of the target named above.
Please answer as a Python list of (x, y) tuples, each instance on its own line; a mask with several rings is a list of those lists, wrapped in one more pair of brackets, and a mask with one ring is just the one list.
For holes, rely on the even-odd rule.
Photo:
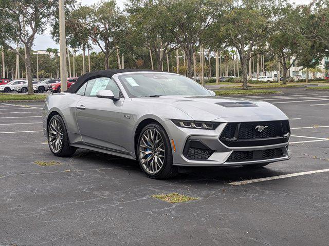
[[(31, 48), (36, 33), (43, 33), (49, 15), (53, 12), (55, 0), (0, 0), (1, 45), (12, 50), (25, 61), (28, 79), (28, 92), (33, 94)], [(26, 57), (17, 52), (13, 44), (20, 42), (26, 49)]]

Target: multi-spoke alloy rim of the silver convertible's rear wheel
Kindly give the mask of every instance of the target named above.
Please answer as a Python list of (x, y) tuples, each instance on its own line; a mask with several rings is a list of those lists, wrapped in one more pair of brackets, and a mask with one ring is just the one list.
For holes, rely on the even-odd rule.
[(48, 141), (51, 150), (55, 153), (63, 147), (63, 126), (57, 118), (54, 118), (49, 124)]

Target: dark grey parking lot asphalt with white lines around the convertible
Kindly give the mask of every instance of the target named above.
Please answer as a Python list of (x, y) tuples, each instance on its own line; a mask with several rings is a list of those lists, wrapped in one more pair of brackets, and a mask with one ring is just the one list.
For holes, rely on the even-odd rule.
[[(55, 157), (42, 103), (0, 102), (0, 245), (328, 245), (329, 91), (240, 98), (288, 115), (292, 158), (258, 170), (184, 169), (169, 180), (93, 151)], [(151, 197), (171, 192), (199, 199)]]

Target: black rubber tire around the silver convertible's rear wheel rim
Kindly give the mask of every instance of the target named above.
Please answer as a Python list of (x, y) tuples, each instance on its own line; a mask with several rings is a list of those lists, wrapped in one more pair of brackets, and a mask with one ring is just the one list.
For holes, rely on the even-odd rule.
[[(51, 122), (53, 120), (58, 120), (58, 122), (61, 124), (61, 126), (62, 126), (62, 135), (63, 135), (62, 147), (59, 149), (59, 151), (56, 151), (56, 152), (52, 150), (52, 148), (50, 146), (50, 139), (49, 139), (49, 129), (50, 129)], [(48, 128), (47, 128), (47, 134), (48, 134), (49, 149), (50, 149), (50, 151), (52, 152), (53, 155), (61, 156), (61, 157), (69, 157), (69, 156), (72, 156), (76, 152), (77, 148), (72, 147), (72, 146), (69, 145), (69, 139), (68, 139), (65, 123), (64, 123), (64, 120), (62, 119), (62, 117), (60, 115), (56, 114), (56, 115), (51, 117), (51, 119), (49, 120)]]

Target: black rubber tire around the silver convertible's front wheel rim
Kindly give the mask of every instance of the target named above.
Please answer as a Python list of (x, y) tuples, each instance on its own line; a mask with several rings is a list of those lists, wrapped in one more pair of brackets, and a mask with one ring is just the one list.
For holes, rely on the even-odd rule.
[[(151, 174), (148, 171), (145, 170), (145, 168), (142, 165), (140, 152), (139, 152), (139, 146), (140, 141), (142, 138), (143, 133), (145, 133), (149, 129), (156, 130), (163, 140), (163, 147), (165, 148), (165, 158), (163, 160), (163, 165), (160, 168), (160, 170), (156, 174)], [(178, 169), (177, 167), (173, 166), (173, 154), (172, 154), (172, 148), (170, 144), (170, 139), (163, 127), (158, 123), (151, 123), (143, 128), (143, 130), (140, 132), (138, 136), (138, 141), (136, 144), (136, 157), (138, 159), (139, 166), (141, 170), (150, 178), (154, 179), (166, 179), (166, 178), (172, 178), (177, 175)]]

